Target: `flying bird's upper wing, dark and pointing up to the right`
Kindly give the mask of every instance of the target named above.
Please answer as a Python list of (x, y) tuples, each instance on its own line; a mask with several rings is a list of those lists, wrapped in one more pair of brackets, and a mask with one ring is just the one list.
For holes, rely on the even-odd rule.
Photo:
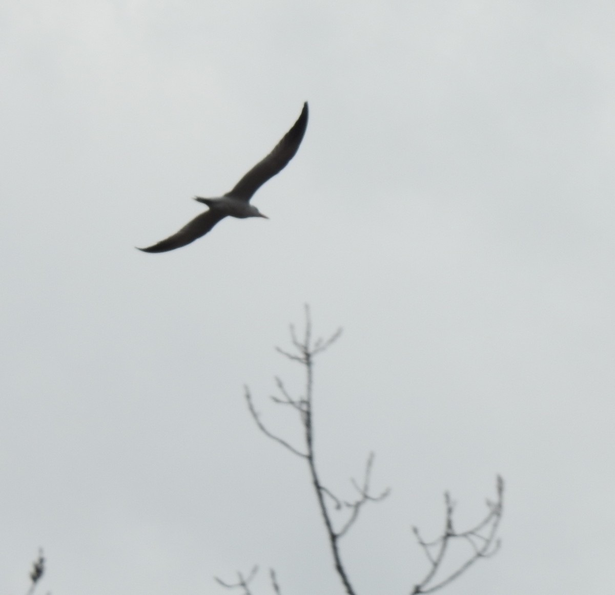
[(246, 202), (252, 198), (252, 195), (263, 184), (276, 173), (282, 171), (288, 162), (295, 156), (303, 135), (308, 126), (308, 102), (303, 104), (303, 109), (298, 120), (293, 127), (288, 130), (282, 140), (276, 144), (276, 147), (265, 157), (258, 162), (248, 173), (237, 182), (237, 185), (227, 192), (225, 196), (232, 196), (236, 199), (245, 200)]

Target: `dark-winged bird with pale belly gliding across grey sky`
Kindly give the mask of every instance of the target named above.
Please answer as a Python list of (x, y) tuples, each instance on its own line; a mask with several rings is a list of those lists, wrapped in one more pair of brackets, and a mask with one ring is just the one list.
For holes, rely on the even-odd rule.
[(273, 151), (267, 157), (258, 162), (243, 178), (237, 182), (236, 186), (224, 194), (223, 197), (215, 199), (205, 199), (200, 196), (194, 197), (194, 200), (207, 205), (208, 210), (200, 215), (197, 215), (190, 223), (182, 227), (177, 234), (173, 234), (166, 240), (162, 240), (149, 248), (139, 248), (143, 252), (167, 252), (181, 248), (194, 240), (197, 240), (202, 235), (215, 226), (216, 223), (222, 221), (224, 217), (231, 216), (239, 219), (247, 217), (263, 217), (263, 215), (254, 205), (250, 204), (250, 199), (253, 194), (263, 184), (276, 173), (280, 173), (288, 162), (295, 156), (303, 135), (308, 126), (308, 103), (303, 104), (303, 109), (298, 120), (293, 124), (293, 127), (282, 137), (282, 140), (276, 144)]

